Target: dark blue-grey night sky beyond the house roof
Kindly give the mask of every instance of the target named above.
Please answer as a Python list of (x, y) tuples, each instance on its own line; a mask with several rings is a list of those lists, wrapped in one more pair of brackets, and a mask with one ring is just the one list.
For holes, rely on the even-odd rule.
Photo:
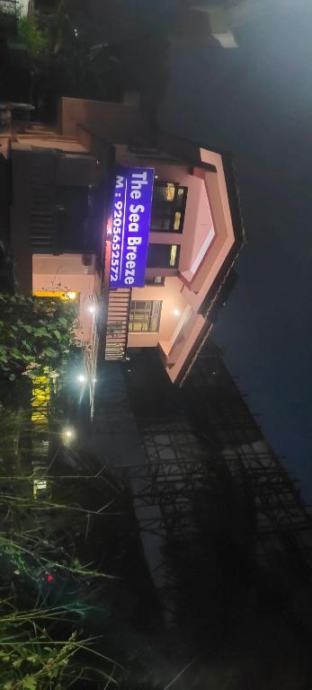
[(312, 4), (171, 66), (161, 126), (236, 161), (248, 243), (213, 337), (312, 503)]

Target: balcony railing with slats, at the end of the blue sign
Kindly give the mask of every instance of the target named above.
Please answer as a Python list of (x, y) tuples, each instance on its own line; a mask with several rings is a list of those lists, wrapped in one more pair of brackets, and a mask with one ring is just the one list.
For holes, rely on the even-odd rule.
[(125, 359), (129, 331), (131, 290), (110, 290), (104, 358)]

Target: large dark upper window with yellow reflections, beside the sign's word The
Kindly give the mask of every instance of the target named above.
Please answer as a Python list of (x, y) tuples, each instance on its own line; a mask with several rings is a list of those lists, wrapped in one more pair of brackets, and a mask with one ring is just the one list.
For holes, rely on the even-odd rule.
[(182, 233), (187, 187), (174, 182), (156, 183), (150, 228), (155, 232)]

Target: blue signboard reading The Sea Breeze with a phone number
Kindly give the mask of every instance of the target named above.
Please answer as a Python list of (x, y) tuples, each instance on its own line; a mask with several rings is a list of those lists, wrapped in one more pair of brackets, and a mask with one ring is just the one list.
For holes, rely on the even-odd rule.
[(141, 288), (147, 264), (152, 168), (120, 168), (112, 213), (111, 288)]

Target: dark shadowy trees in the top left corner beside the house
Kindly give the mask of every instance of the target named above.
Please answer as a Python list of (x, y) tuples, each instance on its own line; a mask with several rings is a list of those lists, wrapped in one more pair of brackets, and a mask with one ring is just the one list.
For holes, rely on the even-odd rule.
[(155, 115), (178, 3), (60, 0), (49, 13), (37, 4), (19, 19), (19, 49), (2, 45), (1, 100), (32, 102), (36, 117), (51, 121), (61, 95), (120, 101), (138, 90)]

